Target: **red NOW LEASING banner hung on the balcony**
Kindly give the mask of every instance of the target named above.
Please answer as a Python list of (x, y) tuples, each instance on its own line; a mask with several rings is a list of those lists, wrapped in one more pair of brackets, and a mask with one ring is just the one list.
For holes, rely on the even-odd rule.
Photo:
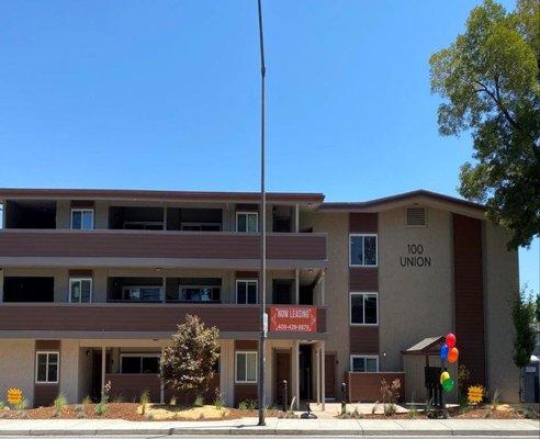
[(277, 333), (316, 333), (315, 306), (270, 306), (270, 330)]

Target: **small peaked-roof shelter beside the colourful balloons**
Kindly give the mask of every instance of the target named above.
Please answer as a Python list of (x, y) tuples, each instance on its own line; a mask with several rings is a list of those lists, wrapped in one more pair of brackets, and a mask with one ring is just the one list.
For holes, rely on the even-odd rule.
[[(426, 365), (442, 368), (440, 348), (443, 342), (443, 336), (427, 337), (402, 351), (405, 370), (405, 399), (407, 403), (425, 403), (427, 401), (424, 370)], [(446, 394), (446, 401), (448, 403), (457, 403), (458, 362), (447, 362), (446, 367), (450, 376), (455, 382), (452, 392)]]

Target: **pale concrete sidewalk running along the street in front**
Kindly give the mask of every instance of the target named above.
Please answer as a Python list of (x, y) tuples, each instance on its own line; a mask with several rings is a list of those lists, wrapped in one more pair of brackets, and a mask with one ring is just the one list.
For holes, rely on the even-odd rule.
[(144, 421), (122, 419), (0, 420), (0, 436), (106, 435), (339, 435), (339, 436), (535, 436), (540, 421), (529, 419), (267, 419)]

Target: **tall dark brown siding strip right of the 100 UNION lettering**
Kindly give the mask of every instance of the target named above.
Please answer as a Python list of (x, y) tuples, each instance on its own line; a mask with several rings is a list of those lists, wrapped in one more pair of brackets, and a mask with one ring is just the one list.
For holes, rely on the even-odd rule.
[(472, 383), (485, 384), (484, 284), (480, 219), (453, 215), (453, 272), (459, 362), (471, 372)]

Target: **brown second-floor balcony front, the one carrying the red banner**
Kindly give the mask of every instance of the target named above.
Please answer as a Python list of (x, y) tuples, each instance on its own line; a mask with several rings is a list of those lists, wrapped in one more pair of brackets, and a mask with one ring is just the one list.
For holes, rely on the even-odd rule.
[[(317, 306), (316, 333), (270, 333), (279, 338), (320, 339), (326, 333), (326, 307)], [(215, 326), (222, 338), (257, 338), (258, 305), (126, 304), (126, 303), (1, 303), (2, 337), (168, 338), (185, 315), (198, 315)], [(238, 333), (243, 333), (238, 335)]]

